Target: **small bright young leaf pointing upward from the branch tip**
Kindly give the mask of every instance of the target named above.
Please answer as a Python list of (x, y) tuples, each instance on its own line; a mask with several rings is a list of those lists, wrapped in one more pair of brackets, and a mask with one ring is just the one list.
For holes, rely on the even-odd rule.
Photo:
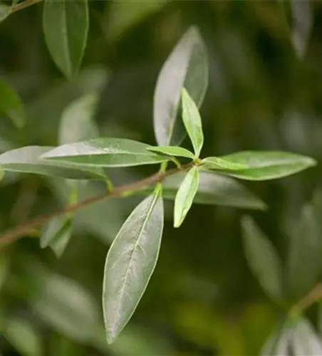
[(202, 120), (197, 105), (185, 88), (182, 89), (182, 120), (194, 147), (194, 155), (199, 157), (204, 144)]

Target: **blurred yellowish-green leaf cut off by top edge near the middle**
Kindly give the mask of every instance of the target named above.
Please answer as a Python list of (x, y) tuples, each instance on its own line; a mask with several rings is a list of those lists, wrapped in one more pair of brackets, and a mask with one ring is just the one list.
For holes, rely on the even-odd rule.
[(167, 4), (165, 0), (113, 1), (106, 16), (107, 38), (118, 39), (137, 23), (160, 11), (165, 4)]

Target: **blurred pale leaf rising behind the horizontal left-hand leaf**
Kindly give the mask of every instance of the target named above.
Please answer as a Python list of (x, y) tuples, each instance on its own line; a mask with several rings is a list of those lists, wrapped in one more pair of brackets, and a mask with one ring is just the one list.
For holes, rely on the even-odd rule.
[(88, 94), (68, 105), (61, 115), (60, 145), (98, 137), (98, 128), (93, 122), (97, 104), (98, 95)]

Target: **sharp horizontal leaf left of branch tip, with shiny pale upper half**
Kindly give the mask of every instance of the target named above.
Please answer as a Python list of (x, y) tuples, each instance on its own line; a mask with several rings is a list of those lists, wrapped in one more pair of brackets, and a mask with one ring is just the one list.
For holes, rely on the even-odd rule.
[(169, 157), (148, 152), (147, 147), (150, 146), (133, 140), (98, 138), (56, 147), (43, 158), (82, 167), (129, 167), (169, 160)]

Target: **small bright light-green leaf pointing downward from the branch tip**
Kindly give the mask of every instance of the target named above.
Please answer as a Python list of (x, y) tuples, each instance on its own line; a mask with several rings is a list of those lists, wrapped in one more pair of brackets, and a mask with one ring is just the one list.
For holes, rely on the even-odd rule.
[(192, 167), (183, 179), (175, 197), (174, 226), (179, 227), (185, 220), (187, 212), (192, 206), (194, 196), (197, 193), (199, 184), (199, 170)]

